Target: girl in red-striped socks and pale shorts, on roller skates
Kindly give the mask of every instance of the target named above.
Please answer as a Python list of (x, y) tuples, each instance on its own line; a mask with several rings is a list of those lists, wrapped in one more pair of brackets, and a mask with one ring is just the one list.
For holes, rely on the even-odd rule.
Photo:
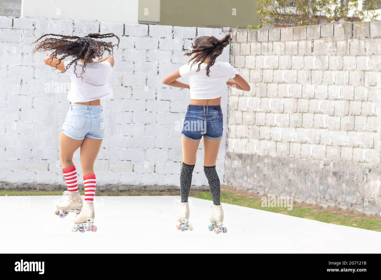
[[(40, 41), (46, 36), (54, 37)], [(112, 37), (118, 43), (97, 40)], [(94, 162), (105, 133), (100, 99), (111, 98), (113, 95), (107, 79), (115, 63), (112, 55), (114, 47), (119, 45), (119, 37), (113, 33), (88, 34), (85, 37), (45, 34), (34, 43), (37, 43), (34, 52), (52, 52), (44, 58), (45, 64), (67, 73), (71, 80), (67, 96), (71, 104), (59, 138), (59, 157), (68, 190), (64, 192), (64, 199), (57, 203), (56, 214), (64, 218), (68, 212), (75, 212), (77, 216), (74, 218), (73, 231), (95, 231)], [(103, 58), (105, 51), (111, 57)], [(64, 61), (66, 58), (70, 59)], [(72, 161), (74, 152), (79, 147), (85, 187), (84, 201), (78, 191), (77, 170)]]

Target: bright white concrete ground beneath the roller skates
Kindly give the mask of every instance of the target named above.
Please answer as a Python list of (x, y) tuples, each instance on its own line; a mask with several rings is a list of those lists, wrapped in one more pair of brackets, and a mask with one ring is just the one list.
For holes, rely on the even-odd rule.
[(190, 198), (193, 231), (176, 230), (176, 196), (96, 197), (97, 232), (72, 232), (58, 196), (0, 197), (2, 253), (379, 253), (381, 232), (223, 204), (227, 233), (208, 231), (210, 201)]

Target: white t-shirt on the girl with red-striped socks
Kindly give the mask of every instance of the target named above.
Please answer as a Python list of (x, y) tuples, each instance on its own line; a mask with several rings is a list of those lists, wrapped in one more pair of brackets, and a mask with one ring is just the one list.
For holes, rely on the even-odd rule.
[[(70, 61), (65, 61), (65, 67)], [(69, 74), (71, 84), (67, 100), (71, 103), (89, 102), (96, 99), (105, 99), (112, 97), (112, 89), (107, 83), (109, 74), (112, 72), (110, 62), (88, 62), (86, 63), (85, 73), (82, 74), (82, 63), (77, 62), (74, 73), (74, 64), (66, 70), (65, 73)], [(75, 75), (77, 74), (77, 75)], [(77, 78), (78, 76), (78, 78)]]

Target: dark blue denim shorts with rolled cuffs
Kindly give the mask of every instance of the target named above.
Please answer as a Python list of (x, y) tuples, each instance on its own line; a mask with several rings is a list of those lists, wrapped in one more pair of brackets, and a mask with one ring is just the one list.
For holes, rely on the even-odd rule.
[(223, 115), (220, 105), (189, 105), (185, 115), (182, 135), (191, 140), (221, 139)]

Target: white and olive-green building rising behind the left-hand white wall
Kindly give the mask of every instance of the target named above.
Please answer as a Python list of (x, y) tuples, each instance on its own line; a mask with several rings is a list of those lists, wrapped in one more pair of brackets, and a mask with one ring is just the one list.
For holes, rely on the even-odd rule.
[(259, 24), (255, 0), (0, 0), (2, 16), (239, 27)]

